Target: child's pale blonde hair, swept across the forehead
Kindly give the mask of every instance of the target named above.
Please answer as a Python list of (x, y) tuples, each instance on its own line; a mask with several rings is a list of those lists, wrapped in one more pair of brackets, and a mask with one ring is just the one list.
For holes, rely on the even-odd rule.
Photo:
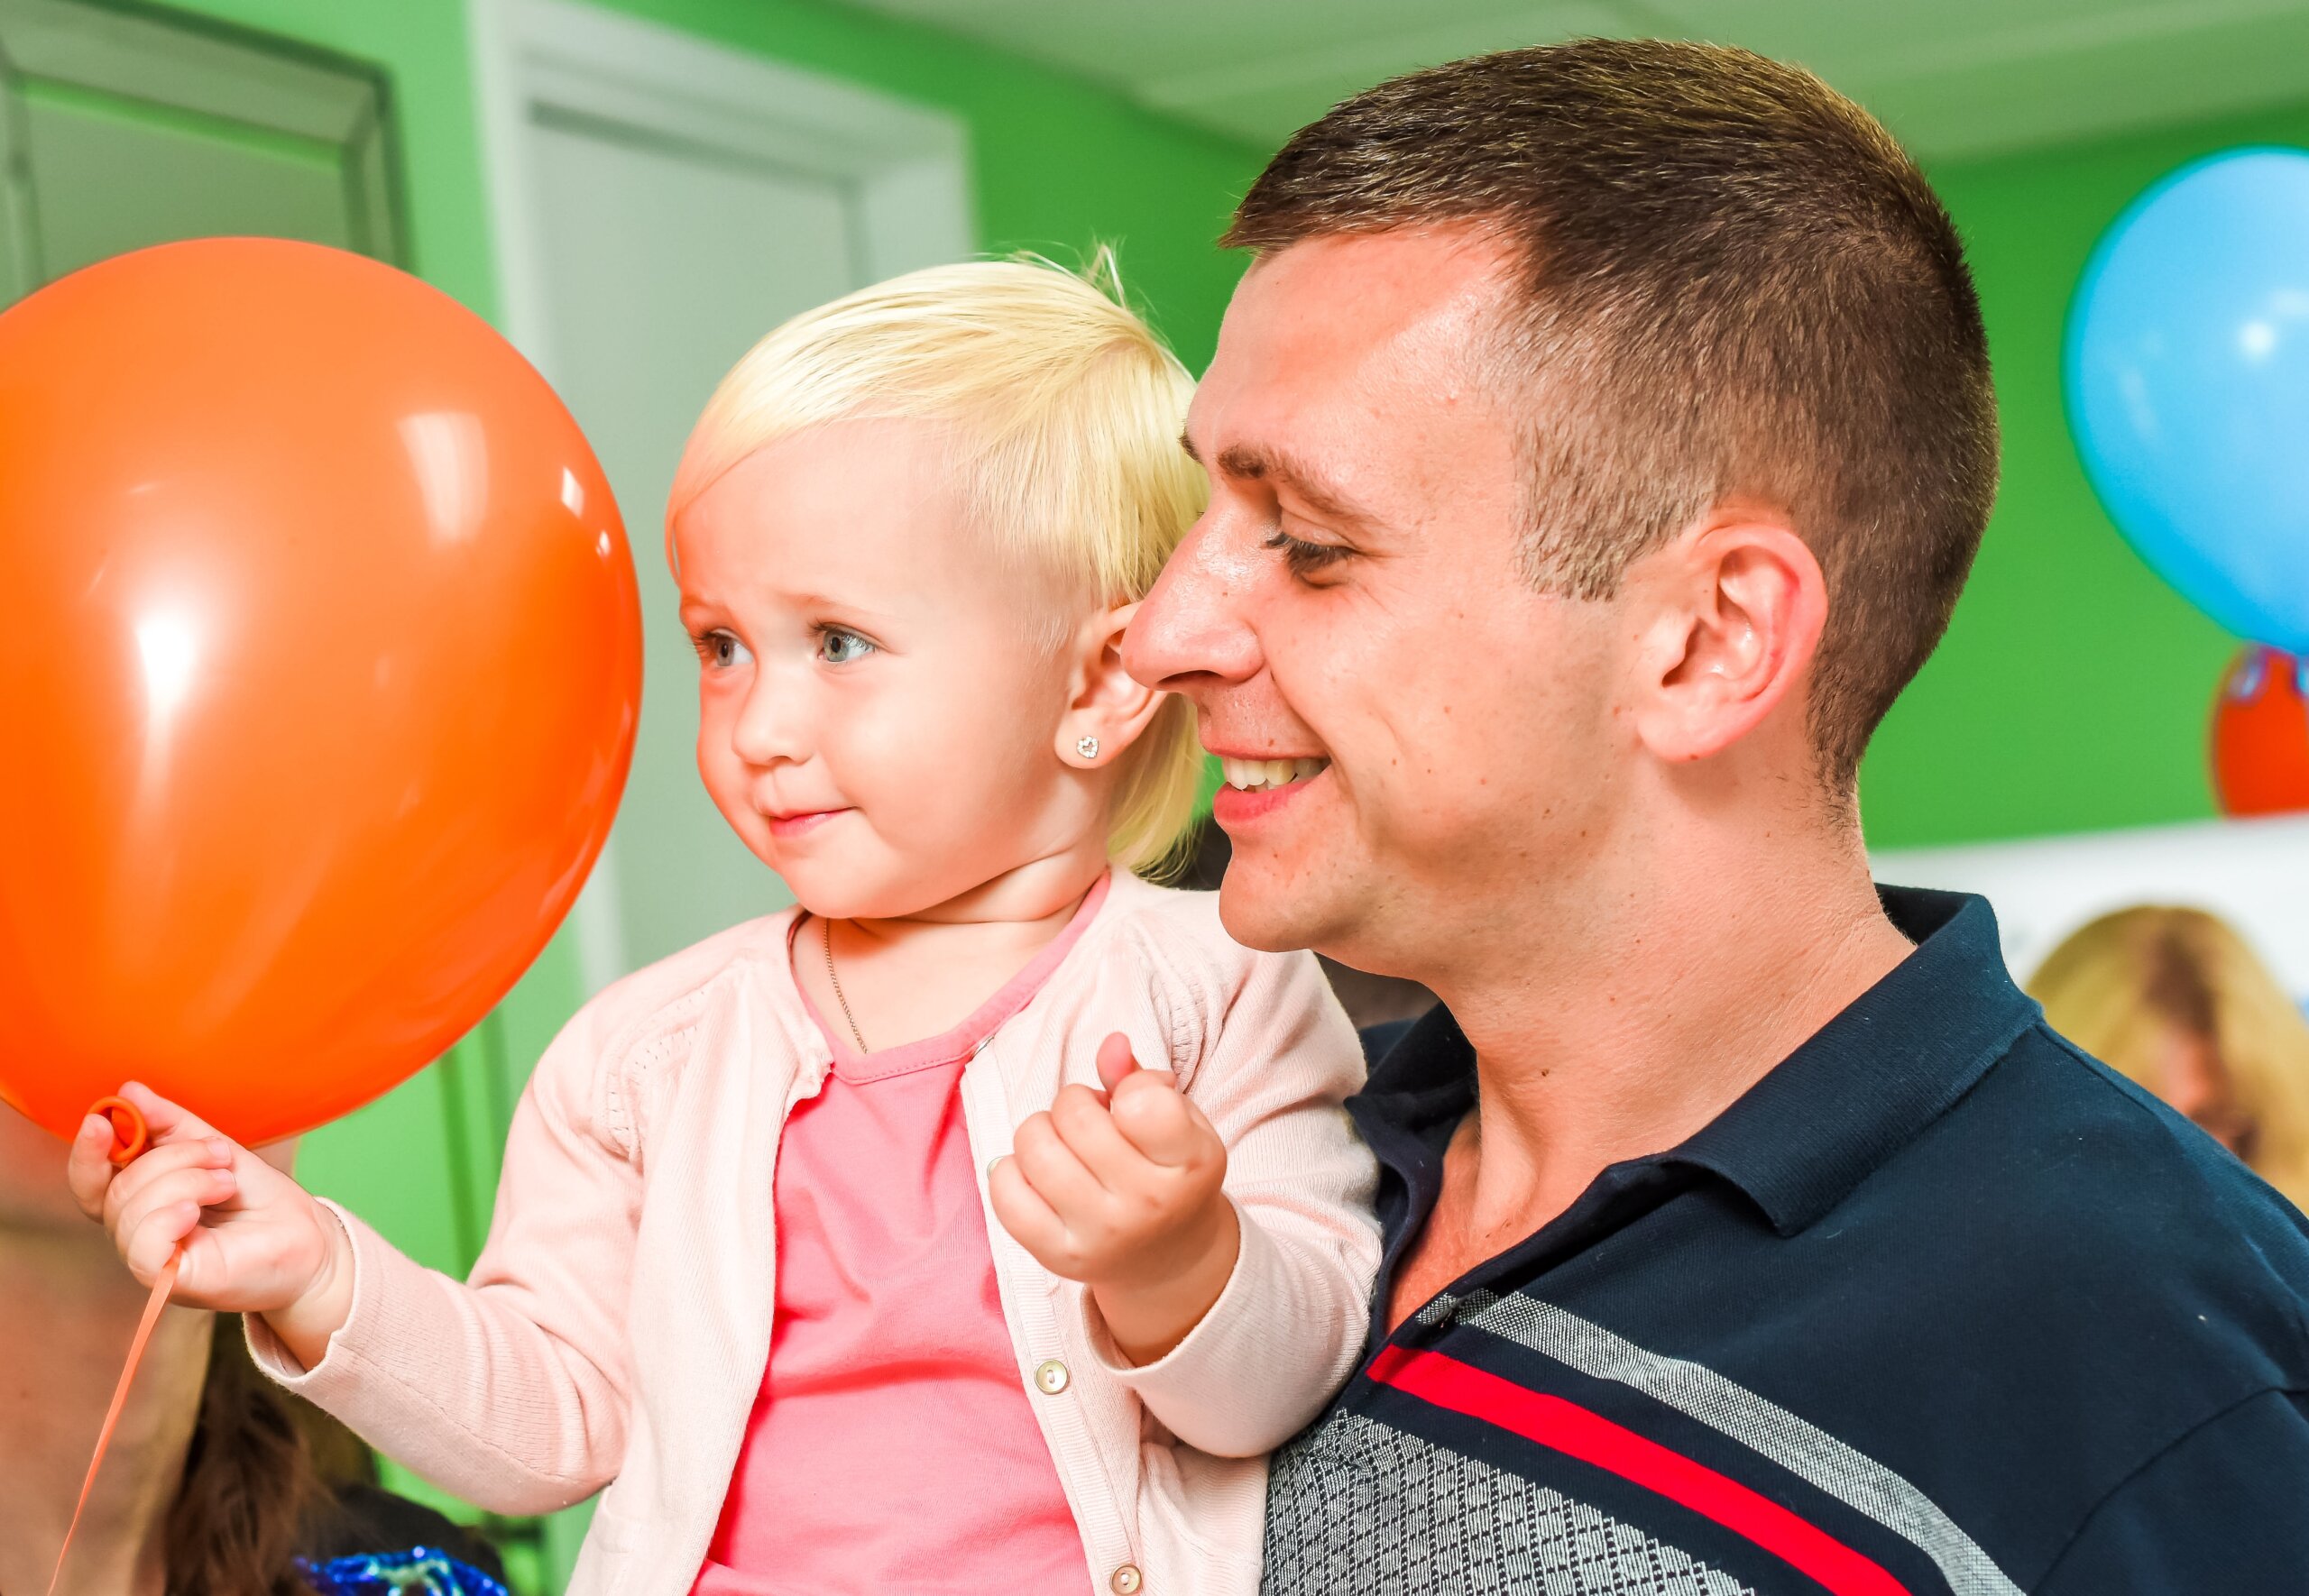
[[(1088, 273), (1039, 259), (933, 266), (804, 312), (713, 390), (665, 506), (672, 524), (760, 448), (834, 420), (935, 420), (972, 524), (1021, 580), (1062, 596), (1048, 642), (1097, 605), (1145, 598), (1203, 513), (1180, 448), (1194, 379), (1122, 303), (1113, 254)], [(1171, 698), (1122, 753), (1108, 857), (1175, 862), (1203, 751)]]

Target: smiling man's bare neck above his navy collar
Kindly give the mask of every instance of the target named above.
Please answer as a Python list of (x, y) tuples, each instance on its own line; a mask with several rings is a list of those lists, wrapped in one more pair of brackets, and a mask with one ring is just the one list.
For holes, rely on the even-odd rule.
[(1529, 1233), (1609, 1164), (1686, 1141), (1910, 952), (1856, 829), (1679, 841), (1570, 908), (1499, 915), (1473, 979), (1439, 977), (1475, 1051), (1455, 1148), (1475, 1229)]

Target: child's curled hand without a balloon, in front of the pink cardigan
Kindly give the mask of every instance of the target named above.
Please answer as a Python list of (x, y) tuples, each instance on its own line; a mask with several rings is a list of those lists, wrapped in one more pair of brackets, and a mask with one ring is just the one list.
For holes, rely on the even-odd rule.
[(1152, 1363), (1219, 1300), (1242, 1229), (1221, 1189), (1226, 1143), (1171, 1072), (1141, 1069), (1113, 1035), (1099, 1081), (1060, 1088), (1018, 1127), (988, 1194), (1021, 1247), (1090, 1287), (1115, 1347)]

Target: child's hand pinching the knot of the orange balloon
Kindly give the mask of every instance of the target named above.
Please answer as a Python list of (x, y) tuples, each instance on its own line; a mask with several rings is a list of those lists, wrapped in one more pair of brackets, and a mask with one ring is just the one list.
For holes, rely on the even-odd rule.
[(113, 1233), (129, 1273), (152, 1284), (182, 1245), (173, 1303), (263, 1314), (312, 1367), (353, 1307), (353, 1245), (305, 1187), (143, 1086), (136, 1104), (152, 1148), (113, 1169), (113, 1127), (99, 1116), (72, 1141), (67, 1180), (81, 1210)]

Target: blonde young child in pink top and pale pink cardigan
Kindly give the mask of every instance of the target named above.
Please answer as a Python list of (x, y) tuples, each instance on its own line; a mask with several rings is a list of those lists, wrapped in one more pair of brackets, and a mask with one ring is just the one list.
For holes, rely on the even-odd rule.
[[(607, 1485), (582, 1596), (1254, 1591), (1263, 1462), (1376, 1268), (1309, 954), (1152, 887), (1189, 709), (1118, 644), (1189, 379), (1046, 266), (914, 273), (723, 381), (667, 515), (697, 765), (797, 908), (545, 1053), (466, 1284), (150, 1092), (74, 1187), (459, 1497)], [(573, 640), (584, 647), (584, 640)]]

